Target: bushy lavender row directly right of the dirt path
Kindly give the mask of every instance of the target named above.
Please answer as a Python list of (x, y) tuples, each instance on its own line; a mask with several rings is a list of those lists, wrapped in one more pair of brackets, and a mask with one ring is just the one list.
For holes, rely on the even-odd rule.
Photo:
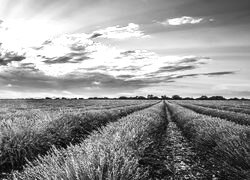
[[(250, 128), (220, 118), (198, 114), (177, 104), (167, 103), (173, 120), (198, 147), (212, 150), (246, 178), (250, 174)], [(239, 173), (240, 172), (240, 173)]]

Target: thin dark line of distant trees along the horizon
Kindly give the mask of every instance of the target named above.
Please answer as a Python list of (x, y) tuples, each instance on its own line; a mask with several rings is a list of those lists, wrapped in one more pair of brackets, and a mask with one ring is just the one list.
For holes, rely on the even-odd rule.
[[(63, 100), (82, 100), (84, 98), (66, 98), (66, 97), (61, 97), (61, 98), (51, 98), (51, 97), (46, 97), (45, 99), (56, 99), (56, 100), (59, 100), (59, 99), (63, 99)], [(118, 98), (108, 98), (108, 97), (89, 97), (87, 99), (123, 99), (123, 100), (126, 100), (126, 99), (138, 99), (138, 100), (147, 100), (147, 99), (150, 99), (150, 100), (249, 100), (249, 99), (245, 99), (245, 98), (237, 98), (237, 97), (234, 97), (234, 98), (225, 98), (223, 96), (211, 96), (211, 97), (208, 97), (208, 96), (201, 96), (201, 97), (198, 97), (198, 98), (193, 98), (193, 97), (181, 97), (179, 95), (173, 95), (171, 97), (168, 97), (166, 95), (163, 95), (163, 96), (155, 96), (153, 94), (149, 94), (147, 95), (146, 97), (145, 96), (120, 96)]]

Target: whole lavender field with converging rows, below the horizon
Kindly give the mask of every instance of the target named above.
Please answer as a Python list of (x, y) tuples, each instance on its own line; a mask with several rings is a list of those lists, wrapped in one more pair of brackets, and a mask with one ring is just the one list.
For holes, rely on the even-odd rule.
[(249, 101), (0, 104), (2, 179), (250, 178)]

